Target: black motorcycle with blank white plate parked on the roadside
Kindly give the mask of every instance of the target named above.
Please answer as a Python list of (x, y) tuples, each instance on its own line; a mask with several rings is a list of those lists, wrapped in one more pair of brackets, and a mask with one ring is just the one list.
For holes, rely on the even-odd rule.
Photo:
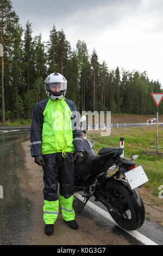
[[(148, 178), (141, 166), (135, 167), (133, 160), (138, 156), (121, 157), (123, 148), (102, 148), (96, 155), (94, 144), (90, 139), (83, 139), (83, 160), (74, 162), (74, 192), (83, 191), (85, 201), (80, 212), (94, 197), (121, 228), (140, 228), (145, 221), (145, 206), (136, 188)], [(114, 169), (116, 172), (109, 174)]]

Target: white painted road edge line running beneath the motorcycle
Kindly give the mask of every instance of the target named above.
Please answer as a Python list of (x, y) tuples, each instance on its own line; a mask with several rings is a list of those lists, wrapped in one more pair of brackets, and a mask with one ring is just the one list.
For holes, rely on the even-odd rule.
[[(79, 200), (81, 200), (83, 202), (84, 198), (79, 194), (79, 193), (74, 193), (74, 196), (77, 197)], [(98, 212), (98, 214), (101, 214), (102, 216), (104, 216), (105, 218), (107, 218), (109, 221), (113, 222), (114, 224), (116, 224), (118, 227), (120, 227), (114, 220), (113, 218), (110, 216), (109, 212), (101, 209), (99, 206), (97, 206), (96, 204), (93, 204), (92, 202), (88, 201), (87, 204), (90, 208), (92, 208), (93, 210), (95, 210), (96, 212)], [(121, 227), (120, 227), (121, 228)], [(123, 229), (123, 228), (121, 228)], [(128, 234), (130, 234), (131, 236), (135, 237), (137, 240), (139, 240), (140, 242), (142, 242), (144, 245), (158, 245), (157, 243), (153, 242), (151, 239), (149, 239), (148, 237), (146, 237), (145, 235), (142, 235), (141, 233), (139, 233), (136, 230), (126, 230), (123, 229), (124, 231), (126, 231)]]

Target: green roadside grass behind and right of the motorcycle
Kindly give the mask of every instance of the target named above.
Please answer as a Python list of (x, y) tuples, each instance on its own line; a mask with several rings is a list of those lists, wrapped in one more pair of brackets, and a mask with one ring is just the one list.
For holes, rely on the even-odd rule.
[(163, 185), (163, 127), (159, 127), (158, 154), (156, 153), (156, 127), (120, 127), (113, 128), (109, 137), (102, 137), (100, 131), (87, 132), (87, 138), (95, 141), (95, 151), (104, 147), (120, 147), (120, 137), (124, 137), (124, 157), (135, 160), (145, 170), (149, 181), (143, 184), (156, 197), (154, 203), (163, 205), (158, 197), (159, 186)]

